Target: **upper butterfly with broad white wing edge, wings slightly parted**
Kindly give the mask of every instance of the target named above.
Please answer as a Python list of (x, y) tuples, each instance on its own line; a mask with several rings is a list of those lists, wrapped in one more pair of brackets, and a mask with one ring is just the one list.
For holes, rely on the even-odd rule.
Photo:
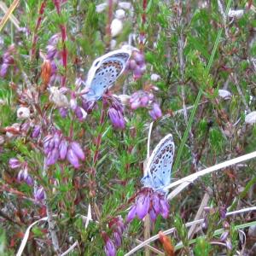
[(131, 45), (124, 45), (121, 49), (113, 50), (93, 61), (84, 88), (88, 91), (83, 96), (87, 102), (99, 100), (112, 87), (125, 71), (133, 50), (137, 49)]

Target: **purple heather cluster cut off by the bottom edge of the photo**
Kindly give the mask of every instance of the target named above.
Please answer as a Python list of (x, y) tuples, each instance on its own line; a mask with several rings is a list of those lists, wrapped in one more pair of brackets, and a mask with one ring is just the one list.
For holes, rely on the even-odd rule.
[(116, 255), (117, 248), (119, 248), (122, 244), (122, 236), (125, 230), (125, 224), (123, 219), (119, 216), (117, 218), (113, 218), (109, 224), (109, 229), (113, 231), (112, 239), (105, 233), (102, 232), (102, 238), (105, 242), (104, 251), (107, 256)]

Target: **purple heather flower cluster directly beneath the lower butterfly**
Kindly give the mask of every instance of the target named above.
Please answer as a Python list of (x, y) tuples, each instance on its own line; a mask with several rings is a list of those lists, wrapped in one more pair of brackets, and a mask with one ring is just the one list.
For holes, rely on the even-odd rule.
[(169, 203), (165, 195), (156, 192), (153, 189), (144, 188), (137, 195), (135, 204), (128, 212), (126, 222), (130, 223), (133, 218), (143, 219), (147, 214), (152, 221), (155, 221), (158, 215), (167, 218), (169, 215)]

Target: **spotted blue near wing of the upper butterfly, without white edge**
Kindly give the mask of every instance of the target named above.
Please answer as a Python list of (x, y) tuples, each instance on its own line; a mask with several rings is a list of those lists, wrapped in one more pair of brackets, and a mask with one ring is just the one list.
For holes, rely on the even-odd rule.
[(120, 74), (124, 72), (129, 58), (129, 54), (119, 53), (103, 60), (101, 66), (96, 70), (94, 78), (90, 83), (90, 90), (84, 96), (85, 99), (88, 102), (99, 100), (111, 88)]

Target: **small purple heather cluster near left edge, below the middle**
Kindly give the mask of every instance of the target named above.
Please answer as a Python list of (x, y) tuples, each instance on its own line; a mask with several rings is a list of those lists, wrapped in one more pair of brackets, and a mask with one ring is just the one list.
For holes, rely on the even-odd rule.
[(29, 186), (33, 185), (33, 179), (28, 173), (27, 163), (21, 162), (16, 158), (9, 159), (9, 167), (12, 169), (19, 169), (19, 173), (17, 176), (18, 182), (26, 182)]

